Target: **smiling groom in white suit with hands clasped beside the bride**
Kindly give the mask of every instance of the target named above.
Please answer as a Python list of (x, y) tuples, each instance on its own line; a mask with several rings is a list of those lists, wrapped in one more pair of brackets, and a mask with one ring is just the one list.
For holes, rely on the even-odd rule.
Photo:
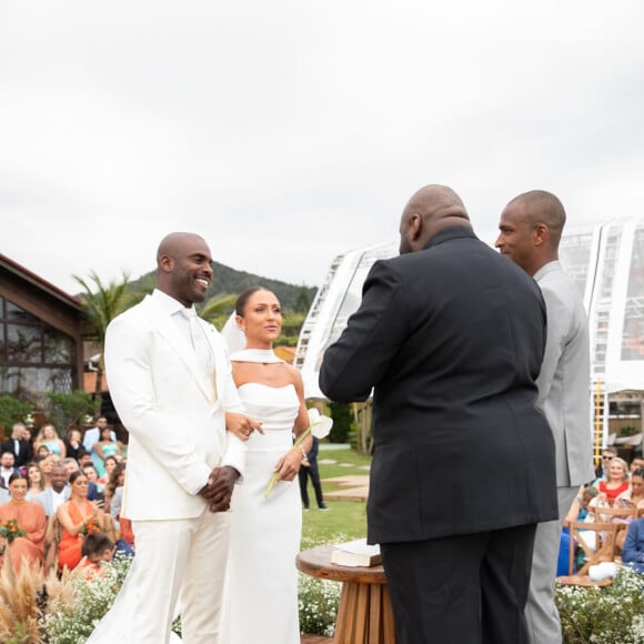
[[(122, 600), (133, 612), (125, 641), (137, 644), (168, 642), (180, 592), (183, 641), (219, 642), (225, 511), (243, 473), (242, 440), (260, 427), (242, 413), (223, 340), (199, 319), (195, 340), (189, 321), (211, 262), (202, 238), (165, 237), (157, 289), (105, 336), (110, 393), (130, 434), (121, 513), (132, 520), (137, 556)], [(115, 641), (100, 626), (94, 635)]]

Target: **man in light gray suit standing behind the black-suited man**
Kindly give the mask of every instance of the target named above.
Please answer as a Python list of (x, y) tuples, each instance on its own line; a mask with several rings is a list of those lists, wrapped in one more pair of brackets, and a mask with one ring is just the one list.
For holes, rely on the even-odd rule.
[(496, 248), (532, 275), (547, 309), (547, 339), (539, 405), (554, 435), (560, 521), (536, 531), (525, 618), (532, 644), (557, 644), (561, 623), (554, 603), (562, 521), (583, 483), (593, 480), (587, 318), (581, 293), (559, 262), (565, 224), (561, 201), (534, 190), (513, 199), (501, 214)]

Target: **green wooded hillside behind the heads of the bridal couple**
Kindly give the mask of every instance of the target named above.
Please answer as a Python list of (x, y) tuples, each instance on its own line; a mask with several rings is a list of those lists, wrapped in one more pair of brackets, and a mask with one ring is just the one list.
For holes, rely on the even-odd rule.
[[(283, 309), (305, 313), (313, 302), (313, 298), (318, 290), (315, 286), (296, 286), (279, 280), (271, 280), (269, 278), (246, 273), (245, 271), (235, 271), (234, 269), (220, 264), (219, 262), (212, 263), (212, 283), (208, 290), (207, 302), (218, 299), (221, 295), (239, 295), (249, 286), (260, 285), (273, 291), (282, 303)], [(154, 288), (154, 271), (151, 271), (150, 273), (141, 275), (138, 280), (131, 280), (128, 284), (128, 291), (132, 293), (149, 293)], [(230, 313), (230, 311), (232, 311), (232, 306), (228, 313)]]

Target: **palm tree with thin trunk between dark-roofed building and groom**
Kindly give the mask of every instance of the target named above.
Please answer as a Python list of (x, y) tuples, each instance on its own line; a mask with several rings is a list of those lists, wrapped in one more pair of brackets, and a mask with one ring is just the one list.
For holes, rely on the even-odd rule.
[(108, 324), (119, 314), (129, 309), (140, 299), (138, 294), (129, 294), (125, 292), (129, 275), (123, 273), (123, 279), (120, 282), (110, 281), (104, 285), (95, 272), (90, 273), (90, 280), (93, 282), (95, 291), (92, 291), (85, 280), (78, 275), (72, 275), (73, 279), (84, 289), (84, 293), (80, 295), (83, 305), (83, 312), (87, 319), (93, 326), (93, 340), (95, 341), (100, 359), (97, 368), (97, 386), (94, 390), (94, 415), (101, 413), (101, 384), (103, 381), (103, 372), (105, 363), (103, 361), (103, 350), (105, 346), (105, 331)]

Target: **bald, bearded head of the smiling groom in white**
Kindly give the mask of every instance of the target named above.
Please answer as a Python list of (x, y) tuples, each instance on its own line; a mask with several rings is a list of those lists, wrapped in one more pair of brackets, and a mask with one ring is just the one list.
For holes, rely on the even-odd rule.
[(184, 306), (203, 302), (212, 280), (208, 244), (191, 232), (171, 232), (157, 251), (157, 286)]

